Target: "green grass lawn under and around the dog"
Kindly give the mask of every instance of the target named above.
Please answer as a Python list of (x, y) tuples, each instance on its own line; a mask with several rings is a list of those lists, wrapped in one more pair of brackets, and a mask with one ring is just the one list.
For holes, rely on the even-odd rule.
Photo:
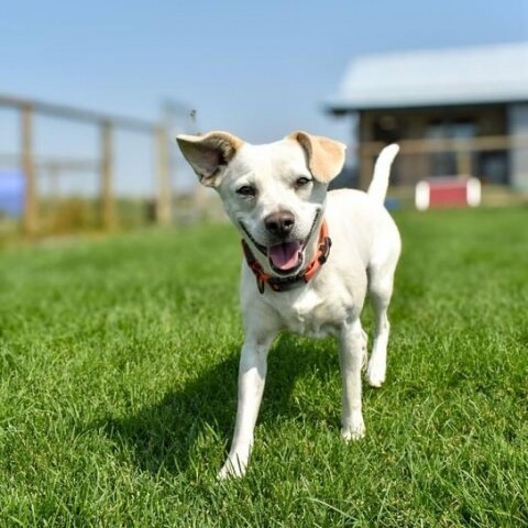
[(283, 336), (248, 477), (228, 483), (232, 228), (4, 249), (0, 526), (526, 526), (527, 219), (398, 212), (388, 378), (364, 391), (366, 438), (339, 435), (336, 344)]

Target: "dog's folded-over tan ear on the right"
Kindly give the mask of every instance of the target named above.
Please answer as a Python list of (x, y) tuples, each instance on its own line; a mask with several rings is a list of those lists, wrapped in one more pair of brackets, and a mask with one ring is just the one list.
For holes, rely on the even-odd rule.
[(343, 168), (346, 150), (343, 143), (300, 131), (293, 132), (287, 138), (297, 141), (304, 148), (308, 158), (308, 168), (319, 182), (328, 184)]

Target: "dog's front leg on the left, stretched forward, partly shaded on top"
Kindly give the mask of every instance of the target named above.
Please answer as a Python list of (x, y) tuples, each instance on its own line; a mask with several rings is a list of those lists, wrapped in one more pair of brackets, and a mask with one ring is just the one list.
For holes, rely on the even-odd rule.
[(274, 338), (275, 333), (261, 338), (249, 334), (245, 338), (240, 358), (239, 402), (233, 442), (228, 460), (220, 470), (220, 479), (243, 476), (248, 468), (253, 430), (266, 380), (267, 352)]

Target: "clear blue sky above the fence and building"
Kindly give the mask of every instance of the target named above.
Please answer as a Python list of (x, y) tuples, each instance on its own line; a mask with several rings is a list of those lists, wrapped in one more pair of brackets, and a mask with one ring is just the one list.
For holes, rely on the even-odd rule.
[[(199, 131), (252, 143), (299, 129), (350, 142), (323, 101), (354, 57), (527, 40), (526, 0), (3, 0), (0, 95), (148, 120), (170, 101), (182, 129), (196, 109)], [(0, 113), (0, 153), (12, 120)], [(56, 127), (41, 127), (41, 148), (97, 148), (92, 131)]]

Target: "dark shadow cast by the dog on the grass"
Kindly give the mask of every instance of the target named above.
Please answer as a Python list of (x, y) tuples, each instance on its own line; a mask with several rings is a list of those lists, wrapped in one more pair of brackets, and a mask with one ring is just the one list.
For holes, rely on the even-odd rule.
[[(222, 363), (204, 372), (179, 391), (167, 394), (158, 404), (145, 407), (124, 419), (99, 422), (98, 428), (118, 444), (132, 448), (134, 462), (143, 471), (173, 473), (185, 471), (202, 447), (205, 431), (213, 431), (215, 442), (230, 441), (237, 410), (239, 350)], [(280, 337), (270, 354), (268, 376), (260, 422), (298, 415), (292, 402), (295, 382), (300, 376), (320, 377), (338, 369), (331, 342), (310, 344)], [(339, 404), (337, 403), (337, 408)]]

